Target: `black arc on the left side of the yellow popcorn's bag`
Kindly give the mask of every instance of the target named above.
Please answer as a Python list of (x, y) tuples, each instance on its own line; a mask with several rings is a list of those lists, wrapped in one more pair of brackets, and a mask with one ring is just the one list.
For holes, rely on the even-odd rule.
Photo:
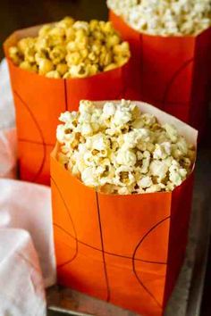
[(40, 167), (39, 167), (39, 169), (38, 169), (38, 172), (36, 173), (36, 175), (34, 176), (34, 178), (32, 178), (32, 179), (30, 180), (31, 182), (35, 182), (35, 181), (38, 179), (40, 173), (42, 172), (43, 167), (44, 167), (44, 164), (45, 164), (45, 161), (46, 161), (46, 145), (45, 145), (45, 138), (44, 138), (44, 136), (43, 136), (42, 129), (39, 127), (38, 121), (36, 120), (36, 118), (35, 118), (35, 116), (34, 116), (34, 113), (30, 110), (30, 107), (28, 106), (28, 104), (26, 104), (26, 103), (22, 100), (21, 96), (17, 93), (17, 91), (14, 91), (14, 94), (15, 94), (15, 96), (17, 96), (17, 97), (19, 98), (19, 100), (21, 101), (21, 104), (23, 104), (23, 105), (25, 106), (25, 108), (27, 109), (27, 111), (30, 113), (30, 117), (31, 117), (32, 121), (34, 121), (34, 123), (35, 123), (35, 125), (36, 125), (36, 127), (37, 127), (37, 129), (38, 129), (39, 136), (40, 136), (41, 139), (42, 139), (42, 143), (41, 143), (41, 144), (42, 144), (42, 146), (43, 146), (43, 158), (42, 158), (42, 161), (41, 161), (41, 163), (40, 163)]

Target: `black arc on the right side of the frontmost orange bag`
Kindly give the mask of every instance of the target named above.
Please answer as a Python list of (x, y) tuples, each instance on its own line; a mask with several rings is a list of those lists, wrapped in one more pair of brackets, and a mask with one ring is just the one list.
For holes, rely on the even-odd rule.
[(160, 224), (162, 224), (165, 220), (169, 220), (169, 219), (170, 219), (170, 216), (167, 216), (167, 217), (165, 217), (164, 220), (158, 221), (158, 222), (156, 223), (156, 225), (154, 225), (151, 229), (149, 229), (148, 232), (147, 232), (143, 237), (141, 237), (141, 239), (140, 239), (140, 241), (139, 241), (139, 244), (135, 247), (134, 252), (133, 252), (133, 254), (132, 254), (132, 270), (133, 270), (133, 273), (134, 273), (136, 279), (137, 279), (138, 282), (139, 282), (139, 285), (145, 289), (145, 291), (148, 293), (148, 295), (150, 295), (150, 296), (154, 299), (154, 301), (156, 302), (156, 304), (157, 304), (159, 307), (161, 307), (161, 308), (162, 308), (162, 305), (161, 305), (159, 302), (157, 302), (155, 295), (153, 295), (153, 294), (148, 290), (148, 287), (146, 287), (146, 286), (144, 285), (144, 283), (141, 281), (141, 279), (139, 278), (139, 275), (138, 275), (138, 273), (137, 273), (137, 271), (136, 271), (136, 266), (135, 266), (135, 256), (136, 256), (137, 250), (139, 249), (139, 246), (143, 243), (143, 241), (145, 240), (145, 238), (148, 237), (148, 235), (149, 235), (154, 229), (156, 229), (157, 226), (159, 226)]

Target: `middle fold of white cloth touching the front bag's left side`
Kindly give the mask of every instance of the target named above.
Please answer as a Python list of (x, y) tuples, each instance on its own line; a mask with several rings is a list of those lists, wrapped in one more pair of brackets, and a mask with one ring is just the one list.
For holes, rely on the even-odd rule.
[(50, 188), (13, 179), (0, 179), (0, 229), (3, 228), (30, 232), (38, 252), (45, 286), (53, 285), (55, 254)]

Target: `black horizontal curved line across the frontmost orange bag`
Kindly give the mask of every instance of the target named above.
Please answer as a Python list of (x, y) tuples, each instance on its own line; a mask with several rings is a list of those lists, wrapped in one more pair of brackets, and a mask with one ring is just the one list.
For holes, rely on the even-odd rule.
[[(63, 229), (62, 226), (60, 226), (60, 225), (58, 225), (58, 224), (56, 224), (56, 223), (53, 223), (53, 225), (54, 225), (55, 227), (57, 227), (57, 229), (63, 230), (63, 232), (64, 232), (65, 234), (67, 234), (69, 237), (72, 237), (73, 239), (75, 239), (75, 237), (74, 237), (69, 231), (67, 231), (66, 229)], [(93, 249), (93, 250), (96, 250), (96, 251), (102, 253), (102, 250), (99, 249), (99, 248), (97, 248), (97, 247), (95, 247), (94, 245), (89, 245), (89, 244), (87, 244), (87, 243), (81, 241), (80, 239), (77, 239), (77, 240), (78, 240), (78, 243), (79, 243), (79, 244), (81, 244), (81, 245), (86, 245), (87, 247), (89, 247), (89, 248), (91, 248), (91, 249)], [(114, 257), (120, 257), (120, 258), (123, 258), (123, 259), (130, 259), (130, 260), (132, 260), (132, 258), (131, 258), (129, 255), (114, 254), (114, 253), (110, 253), (110, 252), (108, 252), (108, 251), (104, 251), (104, 253), (105, 253), (105, 254), (109, 254), (109, 255), (113, 255)], [(153, 261), (143, 260), (143, 259), (139, 259), (139, 258), (135, 258), (134, 260), (135, 260), (136, 262), (154, 263), (154, 264), (166, 264), (166, 262), (153, 262)]]

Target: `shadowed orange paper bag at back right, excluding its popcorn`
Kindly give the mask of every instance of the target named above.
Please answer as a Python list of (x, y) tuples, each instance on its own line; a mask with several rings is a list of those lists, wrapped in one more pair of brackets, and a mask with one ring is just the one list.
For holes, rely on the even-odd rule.
[(141, 100), (189, 123), (202, 134), (211, 92), (211, 28), (198, 36), (159, 37), (131, 29), (112, 11), (110, 20), (131, 45)]

